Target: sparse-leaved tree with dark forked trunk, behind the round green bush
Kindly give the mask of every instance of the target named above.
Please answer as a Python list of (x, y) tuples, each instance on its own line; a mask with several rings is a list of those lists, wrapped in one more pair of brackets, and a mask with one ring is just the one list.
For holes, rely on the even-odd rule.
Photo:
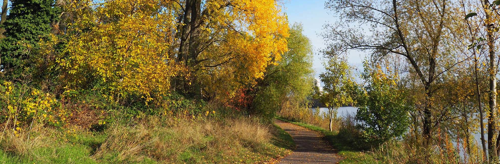
[[(345, 17), (335, 25), (327, 25), (324, 37), (332, 52), (349, 49), (368, 50), (373, 58), (400, 55), (406, 60), (405, 71), (419, 81), (422, 90), (422, 136), (425, 145), (432, 141), (433, 126), (441, 119), (434, 113), (433, 96), (436, 81), (467, 56), (454, 56), (448, 51), (447, 36), (451, 23), (448, 0), (328, 0), (326, 7)], [(415, 12), (410, 12), (415, 10)], [(369, 23), (370, 32), (349, 26), (351, 22)], [(420, 89), (419, 89), (420, 90)], [(437, 116), (437, 118), (435, 117)]]

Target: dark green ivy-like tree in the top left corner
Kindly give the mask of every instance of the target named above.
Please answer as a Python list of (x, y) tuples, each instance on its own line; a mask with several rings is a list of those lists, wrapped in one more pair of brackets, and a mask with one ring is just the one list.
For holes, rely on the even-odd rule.
[(38, 41), (49, 37), (51, 23), (58, 18), (59, 8), (54, 0), (11, 0), (5, 29), (0, 40), (0, 63), (8, 78), (17, 78), (26, 67), (32, 66), (29, 58), (38, 49)]

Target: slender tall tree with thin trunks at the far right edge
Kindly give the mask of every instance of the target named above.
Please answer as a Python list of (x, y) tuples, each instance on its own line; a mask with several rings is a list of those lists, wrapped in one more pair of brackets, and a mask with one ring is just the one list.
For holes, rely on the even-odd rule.
[[(497, 103), (496, 103), (496, 94), (497, 94), (497, 86), (496, 86), (496, 75), (498, 74), (498, 58), (495, 55), (497, 43), (496, 39), (498, 38), (498, 12), (495, 11), (498, 9), (498, 1), (489, 2), (489, 0), (471, 0), (471, 1), (461, 1), (460, 2), (463, 7), (462, 15), (465, 15), (465, 18), (462, 19), (464, 21), (464, 25), (468, 29), (468, 37), (465, 37), (470, 43), (467, 46), (467, 49), (471, 51), (473, 54), (473, 76), (475, 77), (475, 85), (476, 85), (476, 94), (477, 94), (477, 102), (480, 116), (480, 126), (481, 126), (481, 142), (483, 146), (483, 154), (486, 155), (486, 144), (484, 139), (484, 130), (483, 130), (483, 109), (481, 104), (481, 90), (480, 87), (480, 79), (478, 72), (484, 72), (487, 75), (488, 81), (488, 110), (486, 110), (487, 115), (487, 145), (488, 145), (488, 160), (491, 162), (498, 160), (498, 154), (500, 154), (500, 135), (497, 130)], [(467, 6), (467, 7), (465, 7)], [(471, 12), (474, 11), (474, 12)], [(496, 16), (495, 16), (496, 15)], [(480, 61), (481, 55), (486, 57), (486, 62)], [(483, 66), (479, 64), (479, 62), (483, 63)], [(487, 63), (487, 64), (486, 64)], [(482, 69), (480, 69), (482, 68)]]

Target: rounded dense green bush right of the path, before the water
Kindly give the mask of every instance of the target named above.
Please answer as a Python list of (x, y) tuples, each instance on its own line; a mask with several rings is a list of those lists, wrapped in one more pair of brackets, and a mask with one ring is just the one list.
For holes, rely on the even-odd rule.
[(365, 141), (380, 144), (407, 131), (410, 104), (404, 99), (390, 72), (384, 73), (379, 65), (370, 68), (364, 63), (361, 77), (364, 86), (353, 88), (353, 97), (358, 107), (355, 119), (362, 130)]

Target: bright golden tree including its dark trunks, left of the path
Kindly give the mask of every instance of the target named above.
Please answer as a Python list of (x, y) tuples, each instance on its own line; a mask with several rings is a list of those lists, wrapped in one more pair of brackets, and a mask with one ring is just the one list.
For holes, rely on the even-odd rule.
[[(232, 96), (251, 87), (286, 51), (288, 24), (275, 0), (180, 0), (174, 45), (190, 67), (177, 91), (205, 98)], [(173, 50), (177, 46), (173, 46)], [(172, 50), (172, 51), (173, 51)], [(195, 75), (195, 76), (194, 76)], [(191, 83), (188, 85), (187, 83)]]

